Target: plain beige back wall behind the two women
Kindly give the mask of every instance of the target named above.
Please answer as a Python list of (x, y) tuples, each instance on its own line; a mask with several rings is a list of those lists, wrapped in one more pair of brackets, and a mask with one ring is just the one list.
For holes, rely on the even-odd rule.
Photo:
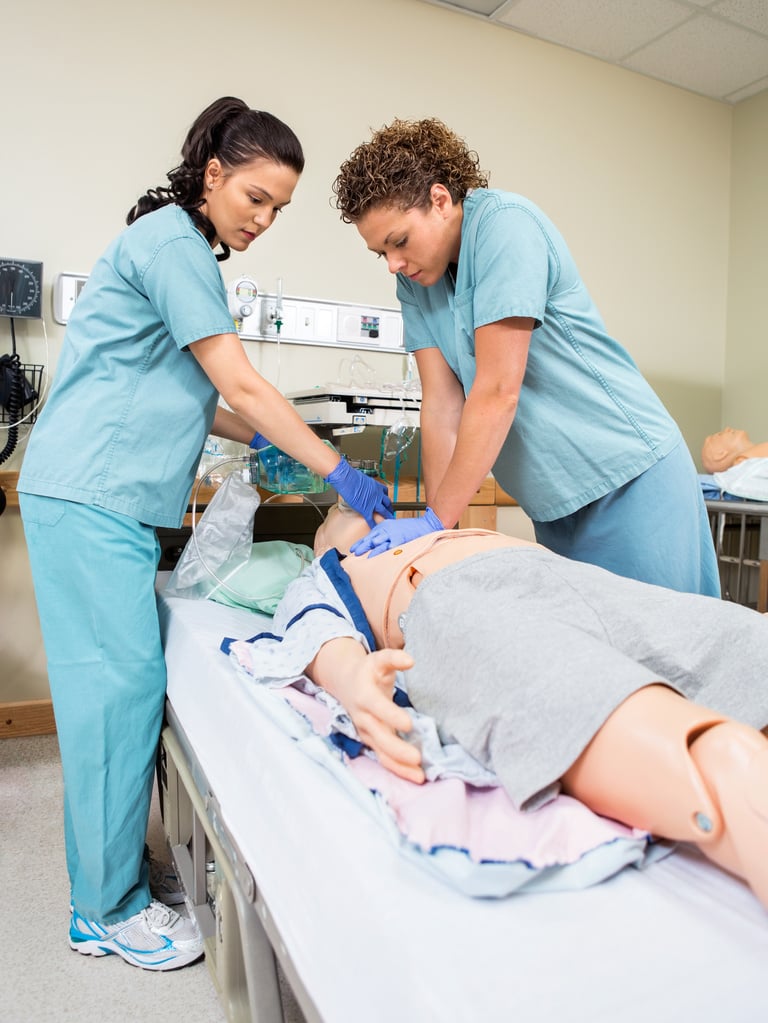
[[(54, 276), (88, 271), (135, 197), (164, 183), (194, 116), (229, 93), (287, 121), (307, 170), (290, 209), (249, 254), (233, 257), (227, 279), (247, 272), (271, 291), (281, 276), (286, 295), (394, 305), (392, 278), (338, 220), (330, 185), (370, 128), (395, 116), (438, 116), (480, 152), (492, 184), (528, 194), (555, 220), (608, 328), (691, 448), (720, 426), (731, 107), (418, 0), (39, 0), (4, 26), (0, 65), (14, 83), (0, 95), (0, 255), (45, 265), (49, 350), (38, 322), (20, 324), (29, 361), (55, 366), (62, 328), (50, 315)], [(764, 104), (754, 120), (735, 119), (744, 155), (734, 174), (747, 176), (761, 117)], [(730, 242), (734, 252), (748, 244)], [(8, 350), (6, 323), (0, 352)], [(275, 380), (274, 346), (250, 351)], [(284, 348), (279, 386), (335, 379), (348, 355)], [(400, 357), (372, 361), (385, 379), (401, 372)], [(21, 454), (22, 445), (2, 468), (18, 468)], [(0, 543), (20, 543), (7, 522)], [(4, 572), (6, 649), (26, 641), (6, 628), (11, 599)], [(19, 660), (12, 653), (0, 661), (0, 701), (40, 695), (15, 669), (9, 674)]]

